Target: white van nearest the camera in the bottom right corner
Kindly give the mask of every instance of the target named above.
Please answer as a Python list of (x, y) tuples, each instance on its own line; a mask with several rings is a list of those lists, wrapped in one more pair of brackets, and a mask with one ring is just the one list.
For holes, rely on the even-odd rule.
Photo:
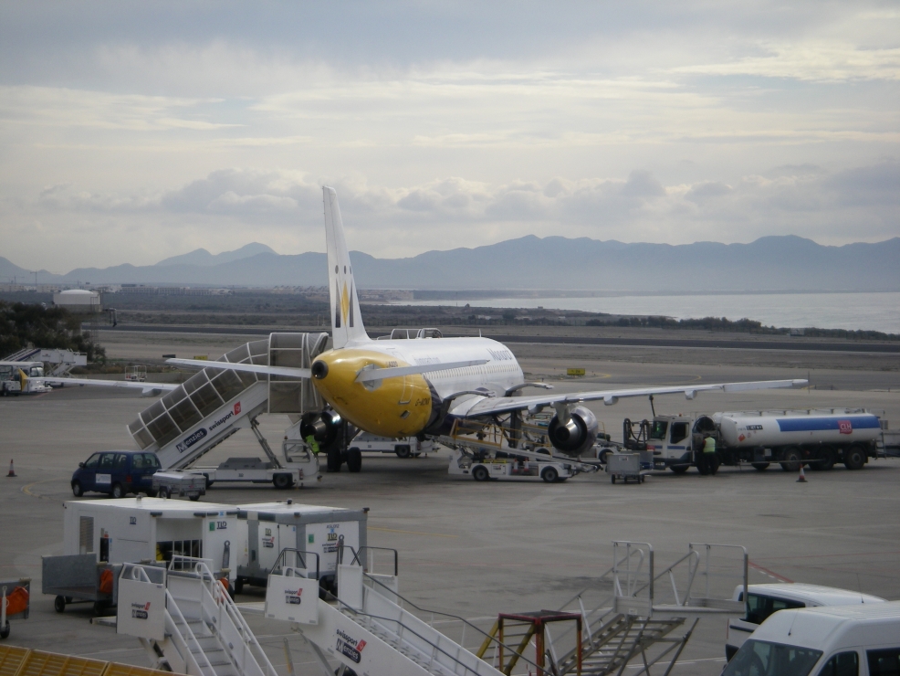
[(900, 601), (775, 613), (722, 676), (894, 676), (900, 673)]

